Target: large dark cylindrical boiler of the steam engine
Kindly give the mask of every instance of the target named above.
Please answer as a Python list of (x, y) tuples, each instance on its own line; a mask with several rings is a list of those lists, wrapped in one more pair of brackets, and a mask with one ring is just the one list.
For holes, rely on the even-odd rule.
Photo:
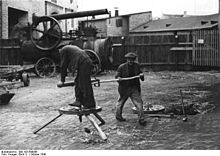
[[(65, 41), (64, 41), (65, 42)], [(88, 40), (70, 40), (66, 41), (67, 44), (79, 46), (82, 49), (90, 49), (96, 52), (101, 61), (101, 70), (112, 68), (112, 42), (109, 38)], [(56, 64), (60, 63), (60, 54), (55, 48), (50, 51), (43, 51), (34, 46), (34, 44), (28, 40), (24, 41), (21, 47), (21, 53), (24, 62), (35, 64), (37, 60), (43, 57), (49, 57), (54, 60)]]

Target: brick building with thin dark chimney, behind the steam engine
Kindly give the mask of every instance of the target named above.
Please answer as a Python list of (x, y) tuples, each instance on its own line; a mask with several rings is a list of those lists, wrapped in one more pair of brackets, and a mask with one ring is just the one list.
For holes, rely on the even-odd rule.
[(115, 10), (114, 17), (80, 21), (84, 27), (97, 29), (97, 37), (129, 36), (134, 28), (152, 20), (152, 12), (140, 12), (120, 15)]

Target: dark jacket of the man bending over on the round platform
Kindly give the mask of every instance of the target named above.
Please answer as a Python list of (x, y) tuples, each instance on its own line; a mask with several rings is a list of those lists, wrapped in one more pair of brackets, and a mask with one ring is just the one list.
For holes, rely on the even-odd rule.
[(77, 46), (67, 45), (61, 49), (61, 82), (65, 82), (67, 75), (67, 69), (69, 69), (74, 75), (75, 71), (79, 68), (80, 64), (89, 59), (86, 52)]

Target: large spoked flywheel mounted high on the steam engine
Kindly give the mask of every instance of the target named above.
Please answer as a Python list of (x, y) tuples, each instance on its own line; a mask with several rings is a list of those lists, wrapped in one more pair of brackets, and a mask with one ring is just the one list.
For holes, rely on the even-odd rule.
[(31, 41), (41, 50), (52, 50), (62, 39), (62, 30), (58, 21), (53, 17), (36, 17), (31, 25)]

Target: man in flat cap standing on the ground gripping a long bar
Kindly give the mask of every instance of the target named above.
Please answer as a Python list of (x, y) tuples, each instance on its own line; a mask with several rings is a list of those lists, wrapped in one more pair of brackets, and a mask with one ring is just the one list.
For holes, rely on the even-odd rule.
[[(140, 65), (137, 62), (134, 62), (136, 57), (137, 55), (133, 52), (127, 53), (125, 55), (127, 62), (121, 64), (117, 69), (117, 74), (115, 78), (119, 79), (119, 99), (116, 104), (116, 119), (118, 121), (126, 121), (126, 119), (122, 117), (122, 110), (125, 102), (130, 97), (132, 103), (137, 108), (139, 124), (145, 126), (146, 121), (144, 119), (143, 113), (143, 101), (141, 98), (141, 87), (139, 78), (132, 80), (121, 79), (143, 74), (140, 69)], [(144, 81), (144, 75), (142, 75), (142, 77), (140, 78), (142, 81)]]

